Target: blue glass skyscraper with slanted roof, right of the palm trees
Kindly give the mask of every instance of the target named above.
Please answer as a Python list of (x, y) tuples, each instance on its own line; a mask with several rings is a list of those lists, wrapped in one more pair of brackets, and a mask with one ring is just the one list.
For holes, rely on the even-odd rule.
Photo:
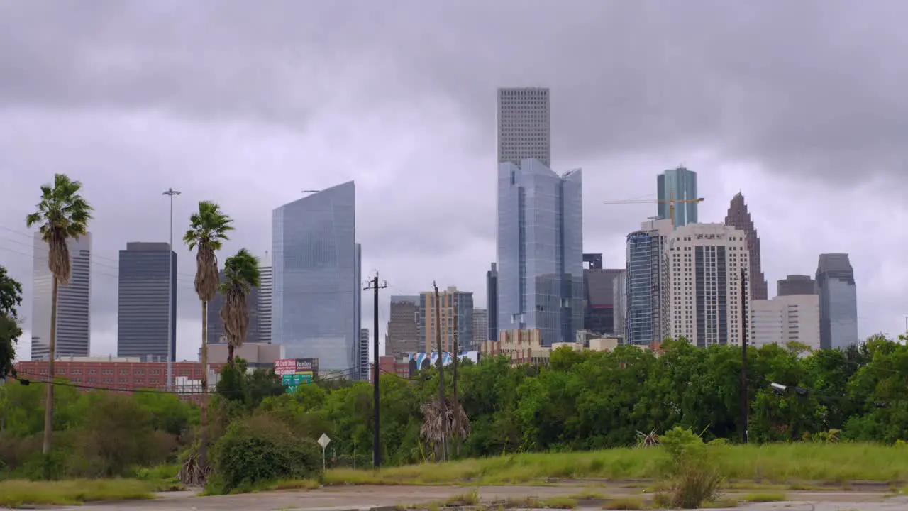
[(353, 182), (274, 209), (271, 342), (321, 370), (359, 366), (360, 245)]

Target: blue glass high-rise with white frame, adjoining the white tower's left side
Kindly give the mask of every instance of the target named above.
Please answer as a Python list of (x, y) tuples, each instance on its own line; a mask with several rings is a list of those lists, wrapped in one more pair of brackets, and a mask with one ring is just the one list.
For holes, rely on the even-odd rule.
[(671, 335), (668, 305), (666, 240), (668, 219), (650, 220), (627, 235), (625, 281), (625, 342), (649, 345)]

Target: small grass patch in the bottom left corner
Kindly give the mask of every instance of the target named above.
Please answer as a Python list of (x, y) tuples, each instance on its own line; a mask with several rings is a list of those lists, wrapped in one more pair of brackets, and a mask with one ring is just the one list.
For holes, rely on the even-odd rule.
[(155, 486), (137, 479), (72, 479), (68, 481), (0, 482), (0, 507), (25, 504), (77, 506), (85, 502), (153, 498)]

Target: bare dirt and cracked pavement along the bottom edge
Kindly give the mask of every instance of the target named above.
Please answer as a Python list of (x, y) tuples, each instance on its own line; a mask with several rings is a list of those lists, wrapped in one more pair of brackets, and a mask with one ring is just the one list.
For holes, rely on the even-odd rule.
[[(194, 492), (160, 494), (145, 501), (90, 504), (72, 507), (73, 511), (390, 511), (398, 505), (428, 503), (469, 493), (474, 488), (463, 486), (331, 486), (317, 490), (276, 491), (234, 496), (196, 496)], [(577, 496), (597, 492), (609, 497), (645, 497), (640, 487), (597, 486), (480, 486), (479, 496), (489, 502), (503, 499), (522, 500), (537, 497), (545, 500), (556, 496)], [(772, 493), (735, 490), (725, 496), (747, 493)], [(785, 509), (786, 511), (895, 511), (908, 509), (908, 497), (890, 497), (883, 491), (785, 492), (786, 502), (737, 506), (739, 511)], [(600, 509), (602, 502), (578, 501), (578, 508)], [(60, 508), (58, 508), (60, 509)]]

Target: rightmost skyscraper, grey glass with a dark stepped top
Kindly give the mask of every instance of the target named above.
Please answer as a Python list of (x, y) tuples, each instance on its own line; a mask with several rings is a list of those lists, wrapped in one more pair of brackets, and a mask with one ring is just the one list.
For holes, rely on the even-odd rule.
[(820, 347), (833, 349), (856, 345), (857, 287), (847, 254), (821, 254), (816, 266), (820, 295)]

